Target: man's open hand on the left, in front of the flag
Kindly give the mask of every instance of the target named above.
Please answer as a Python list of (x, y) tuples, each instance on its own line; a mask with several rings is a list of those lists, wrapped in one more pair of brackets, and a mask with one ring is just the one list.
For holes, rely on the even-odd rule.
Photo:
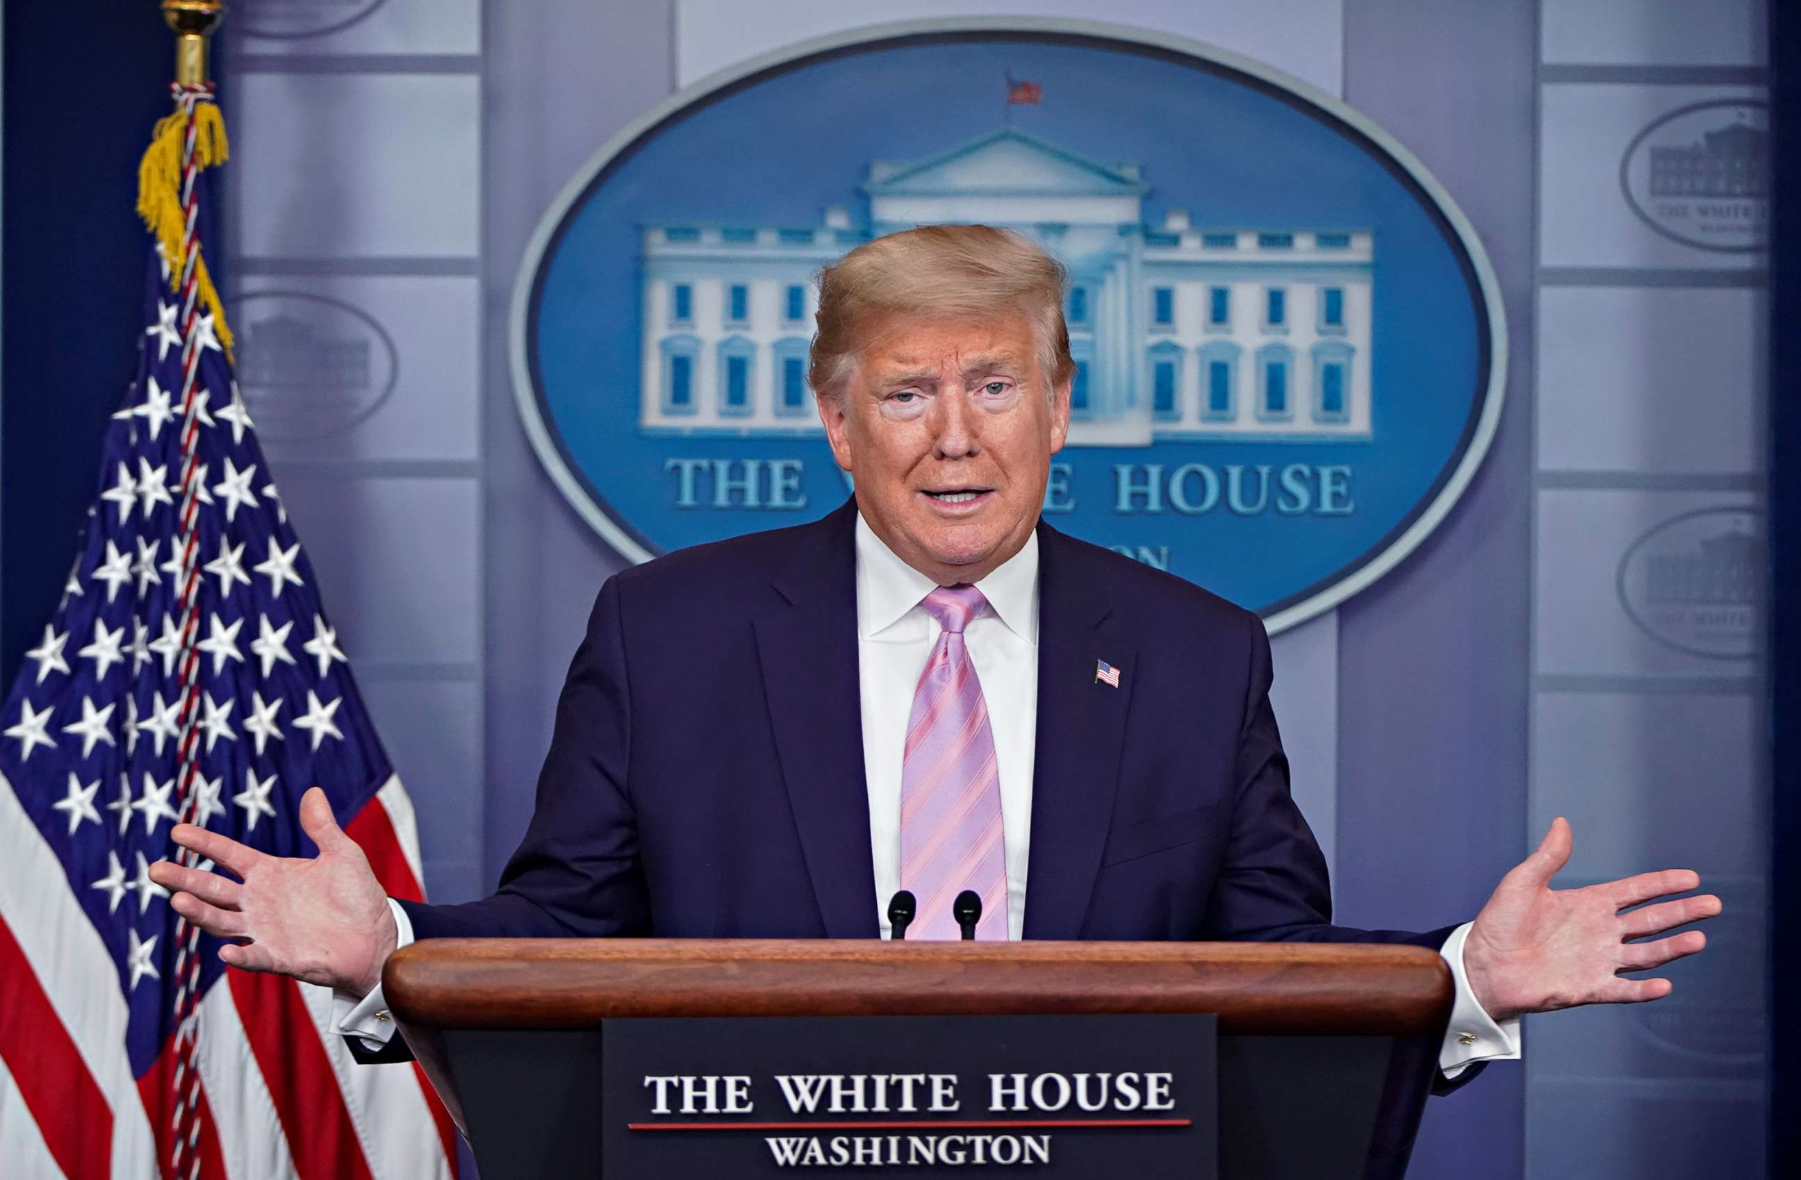
[(236, 874), (149, 867), (149, 879), (171, 890), (169, 904), (189, 922), (227, 939), (220, 958), (245, 971), (274, 971), (306, 984), (364, 996), (382, 982), (394, 953), (394, 915), (357, 841), (331, 818), (326, 793), (301, 796), (301, 829), (319, 845), (313, 859), (268, 856), (247, 845), (178, 823), (175, 843)]

